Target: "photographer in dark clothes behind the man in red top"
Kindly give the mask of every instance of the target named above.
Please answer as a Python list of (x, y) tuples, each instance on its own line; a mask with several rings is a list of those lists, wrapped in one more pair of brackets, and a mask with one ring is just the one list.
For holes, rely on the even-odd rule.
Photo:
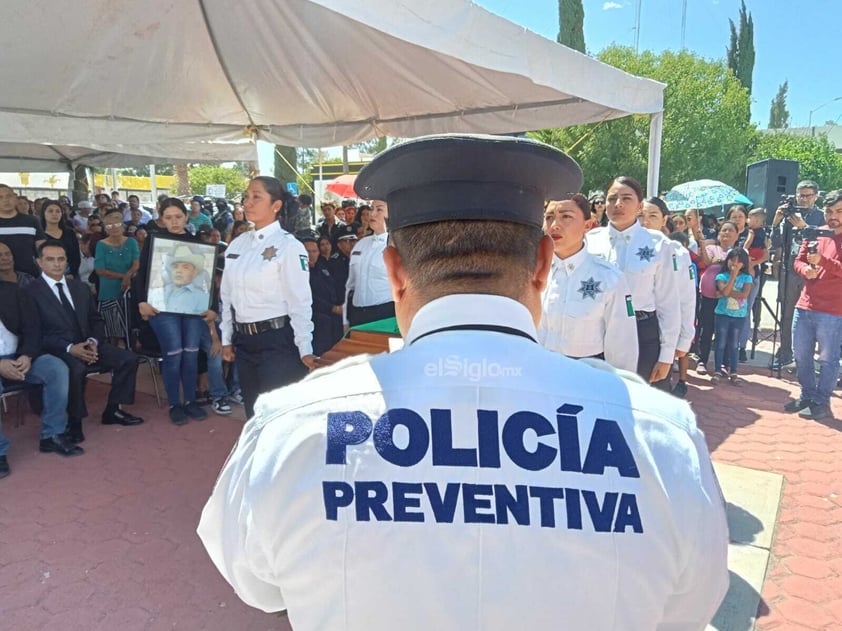
[(770, 368), (779, 370), (791, 364), (792, 316), (795, 303), (804, 287), (804, 279), (795, 273), (793, 261), (803, 242), (802, 230), (808, 226), (818, 227), (824, 223), (824, 213), (816, 206), (819, 185), (812, 180), (802, 180), (795, 188), (794, 196), (787, 195), (775, 211), (772, 220), (772, 249), (776, 251), (778, 268), (778, 302), (780, 311), (780, 346)]

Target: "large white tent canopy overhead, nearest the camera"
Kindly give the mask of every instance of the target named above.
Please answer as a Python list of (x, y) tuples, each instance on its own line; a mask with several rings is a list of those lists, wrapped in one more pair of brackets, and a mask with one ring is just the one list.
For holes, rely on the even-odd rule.
[(179, 160), (636, 113), (657, 173), (662, 84), (468, 0), (7, 0), (0, 36), (0, 141)]

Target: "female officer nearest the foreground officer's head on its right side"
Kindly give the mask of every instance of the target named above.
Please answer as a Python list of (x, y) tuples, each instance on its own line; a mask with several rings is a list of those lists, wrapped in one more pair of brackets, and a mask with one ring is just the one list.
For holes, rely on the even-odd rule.
[(583, 195), (551, 201), (544, 234), (553, 240), (552, 269), (541, 299), (538, 341), (574, 359), (599, 357), (637, 370), (637, 323), (623, 273), (585, 249), (591, 207)]

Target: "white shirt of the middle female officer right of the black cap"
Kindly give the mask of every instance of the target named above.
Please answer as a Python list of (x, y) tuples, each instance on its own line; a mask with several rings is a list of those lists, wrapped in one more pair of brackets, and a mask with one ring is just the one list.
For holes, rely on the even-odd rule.
[(610, 225), (591, 230), (586, 243), (589, 252), (623, 272), (636, 311), (657, 312), (661, 330), (658, 361), (671, 364), (681, 333), (681, 307), (669, 240), (656, 230), (634, 223), (622, 232)]

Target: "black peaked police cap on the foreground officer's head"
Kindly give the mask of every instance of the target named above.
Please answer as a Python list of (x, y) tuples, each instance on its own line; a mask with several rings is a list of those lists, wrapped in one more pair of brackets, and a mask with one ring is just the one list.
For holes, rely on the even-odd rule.
[(442, 134), (401, 143), (363, 167), (354, 190), (389, 206), (389, 229), (453, 220), (541, 227), (544, 202), (582, 187), (579, 165), (529, 138)]

